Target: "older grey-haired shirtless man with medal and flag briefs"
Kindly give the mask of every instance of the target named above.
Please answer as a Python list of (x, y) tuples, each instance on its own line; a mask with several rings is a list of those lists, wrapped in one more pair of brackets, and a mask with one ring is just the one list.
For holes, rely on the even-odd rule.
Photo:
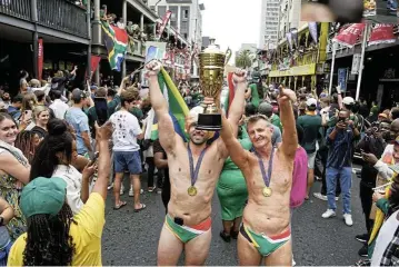
[(298, 138), (291, 103), (296, 93), (280, 87), (282, 142), (273, 148), (272, 126), (262, 115), (248, 119), (253, 152), (242, 149), (226, 118), (221, 137), (232, 161), (241, 169), (248, 187), (248, 205), (238, 237), (240, 265), (291, 265), (290, 191)]

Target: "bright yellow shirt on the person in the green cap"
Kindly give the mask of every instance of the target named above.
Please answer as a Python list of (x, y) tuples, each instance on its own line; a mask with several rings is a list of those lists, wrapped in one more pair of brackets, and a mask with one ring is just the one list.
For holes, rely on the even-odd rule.
[[(92, 192), (83, 208), (73, 216), (77, 224), (69, 230), (76, 251), (72, 266), (101, 266), (101, 236), (106, 224), (106, 202), (100, 194)], [(27, 233), (21, 235), (11, 247), (8, 266), (22, 266), (27, 245)]]

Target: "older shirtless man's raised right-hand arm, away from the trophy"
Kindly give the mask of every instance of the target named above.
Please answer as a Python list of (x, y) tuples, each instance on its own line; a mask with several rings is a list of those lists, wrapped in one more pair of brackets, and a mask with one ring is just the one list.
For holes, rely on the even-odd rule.
[(288, 158), (295, 158), (298, 148), (297, 127), (291, 102), (297, 101), (295, 91), (280, 87), (280, 119), (283, 127), (280, 149)]

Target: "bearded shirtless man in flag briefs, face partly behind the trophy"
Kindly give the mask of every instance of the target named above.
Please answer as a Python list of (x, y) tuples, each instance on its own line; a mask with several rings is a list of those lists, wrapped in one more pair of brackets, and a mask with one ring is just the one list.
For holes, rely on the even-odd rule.
[[(168, 156), (171, 187), (168, 215), (159, 240), (158, 265), (176, 266), (183, 249), (186, 265), (203, 265), (211, 241), (211, 200), (228, 151), (221, 138), (208, 146), (210, 132), (197, 130), (197, 121), (192, 118), (186, 121), (189, 144), (174, 132), (168, 102), (158, 83), (160, 68), (159, 62), (147, 65), (151, 105), (158, 118), (159, 141)], [(237, 89), (229, 122), (236, 136), (243, 112), (247, 82), (243, 71), (237, 71), (233, 79)], [(212, 103), (213, 100), (206, 99), (206, 102)]]

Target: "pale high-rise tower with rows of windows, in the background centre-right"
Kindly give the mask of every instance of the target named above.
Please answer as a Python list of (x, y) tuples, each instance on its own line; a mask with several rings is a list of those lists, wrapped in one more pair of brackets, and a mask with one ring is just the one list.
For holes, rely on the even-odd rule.
[(259, 47), (270, 49), (278, 43), (280, 0), (262, 0)]

